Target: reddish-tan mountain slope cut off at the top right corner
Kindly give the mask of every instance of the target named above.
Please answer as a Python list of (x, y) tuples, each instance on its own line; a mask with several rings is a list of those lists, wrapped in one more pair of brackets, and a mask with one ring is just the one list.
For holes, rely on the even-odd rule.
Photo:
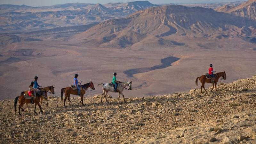
[(249, 0), (238, 6), (224, 5), (217, 8), (218, 12), (227, 12), (236, 16), (242, 16), (251, 20), (256, 20), (256, 0)]

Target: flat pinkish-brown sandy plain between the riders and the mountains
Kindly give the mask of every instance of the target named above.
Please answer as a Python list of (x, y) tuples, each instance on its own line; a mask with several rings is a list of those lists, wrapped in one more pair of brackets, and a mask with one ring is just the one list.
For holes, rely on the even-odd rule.
[[(207, 73), (210, 63), (217, 72), (226, 71), (225, 83), (256, 74), (255, 44), (232, 38), (172, 35), (165, 39), (183, 45), (164, 47), (140, 43), (122, 49), (52, 40), (10, 44), (0, 52), (3, 55), (0, 57), (0, 99), (19, 96), (28, 89), (34, 76), (39, 77), (42, 86), (55, 85), (55, 93), (60, 95), (60, 89), (71, 85), (77, 73), (83, 83), (94, 83), (96, 90), (85, 96), (92, 97), (102, 92), (97, 84), (111, 82), (113, 72), (117, 72), (118, 81), (133, 81), (133, 90), (126, 90), (125, 97), (145, 97), (198, 88), (195, 79)], [(179, 60), (172, 66), (133, 77), (124, 74), (129, 69), (160, 65), (161, 59), (169, 56)], [(110, 95), (117, 97), (116, 93)]]

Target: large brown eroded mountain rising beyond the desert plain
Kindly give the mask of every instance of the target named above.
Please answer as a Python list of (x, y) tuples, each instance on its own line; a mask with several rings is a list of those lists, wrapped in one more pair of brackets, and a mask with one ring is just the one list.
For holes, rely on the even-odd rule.
[(181, 5), (152, 7), (127, 18), (104, 21), (71, 40), (102, 47), (127, 47), (133, 44), (166, 44), (163, 38), (173, 34), (227, 38), (255, 33), (255, 21), (202, 7)]

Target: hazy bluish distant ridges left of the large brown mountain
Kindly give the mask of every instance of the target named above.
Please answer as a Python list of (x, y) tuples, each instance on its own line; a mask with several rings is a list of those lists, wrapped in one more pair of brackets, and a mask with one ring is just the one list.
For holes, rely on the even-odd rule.
[[(106, 7), (107, 6), (107, 7)], [(87, 25), (157, 6), (148, 1), (106, 4), (60, 4), (44, 7), (0, 5), (0, 31), (37, 31)]]

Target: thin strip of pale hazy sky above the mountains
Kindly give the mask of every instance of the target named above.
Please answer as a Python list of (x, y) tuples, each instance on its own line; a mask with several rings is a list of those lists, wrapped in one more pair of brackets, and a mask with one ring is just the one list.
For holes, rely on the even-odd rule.
[[(66, 3), (116, 3), (116, 2), (132, 2), (136, 0), (0, 0), (0, 4), (18, 4), (29, 6), (49, 6), (54, 4)], [(153, 4), (167, 3), (207, 3), (207, 2), (235, 2), (237, 0), (148, 0)]]

